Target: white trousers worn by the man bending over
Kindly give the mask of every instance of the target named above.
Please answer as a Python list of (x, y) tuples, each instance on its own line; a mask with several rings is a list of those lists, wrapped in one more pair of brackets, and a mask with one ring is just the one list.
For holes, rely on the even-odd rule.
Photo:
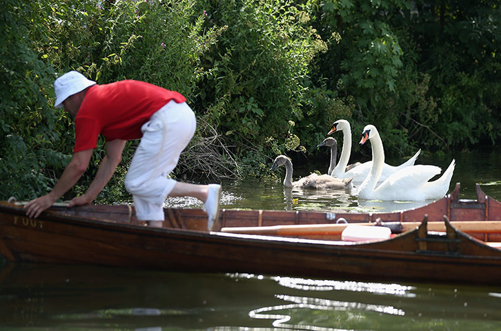
[(169, 101), (141, 127), (143, 137), (125, 178), (140, 221), (164, 221), (164, 201), (176, 184), (167, 176), (196, 128), (193, 110), (175, 101)]

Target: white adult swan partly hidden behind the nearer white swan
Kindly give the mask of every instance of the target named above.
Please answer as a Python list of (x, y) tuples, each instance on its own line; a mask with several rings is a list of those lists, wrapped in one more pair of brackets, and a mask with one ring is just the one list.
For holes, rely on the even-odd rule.
[[(372, 161), (367, 161), (362, 163), (361, 165), (358, 165), (357, 167), (351, 169), (351, 170), (345, 170), (346, 165), (348, 165), (348, 160), (350, 159), (350, 153), (351, 153), (351, 128), (350, 128), (350, 123), (346, 121), (345, 119), (340, 119), (338, 121), (335, 121), (333, 123), (333, 126), (331, 128), (331, 131), (329, 131), (327, 134), (331, 134), (336, 131), (342, 131), (343, 132), (343, 148), (341, 150), (341, 157), (340, 161), (337, 163), (335, 168), (331, 172), (332, 177), (336, 178), (349, 178), (353, 177), (353, 182), (354, 183), (362, 183), (364, 179), (366, 179), (367, 175), (369, 174), (369, 171), (371, 170), (371, 165)], [(389, 165), (386, 163), (383, 163), (383, 168), (382, 168), (382, 174), (380, 177), (380, 181), (384, 181), (384, 179), (388, 178), (390, 174), (393, 174), (393, 172), (400, 170), (402, 168), (409, 167), (410, 165), (414, 165), (415, 160), (417, 159), (417, 156), (420, 154), (421, 150), (418, 150), (417, 153), (414, 154), (411, 159), (405, 161), (401, 165), (398, 166), (393, 166)]]

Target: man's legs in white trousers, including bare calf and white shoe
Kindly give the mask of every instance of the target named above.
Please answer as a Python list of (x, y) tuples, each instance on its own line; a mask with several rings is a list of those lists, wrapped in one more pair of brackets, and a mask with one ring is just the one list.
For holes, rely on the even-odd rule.
[(219, 215), (221, 185), (181, 183), (166, 178), (195, 133), (195, 115), (186, 103), (169, 103), (157, 113), (142, 128), (144, 135), (126, 176), (126, 188), (134, 197), (137, 217), (157, 226), (161, 224), (160, 217), (164, 219), (162, 206), (166, 197), (195, 197), (204, 202), (211, 230)]

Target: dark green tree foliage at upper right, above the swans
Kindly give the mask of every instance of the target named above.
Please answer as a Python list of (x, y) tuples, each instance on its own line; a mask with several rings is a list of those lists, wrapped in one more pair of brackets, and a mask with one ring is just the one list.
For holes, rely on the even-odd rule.
[(319, 77), (342, 100), (355, 98), (352, 126), (375, 124), (399, 154), (499, 139), (498, 1), (325, 0), (319, 8), (317, 29), (330, 46)]

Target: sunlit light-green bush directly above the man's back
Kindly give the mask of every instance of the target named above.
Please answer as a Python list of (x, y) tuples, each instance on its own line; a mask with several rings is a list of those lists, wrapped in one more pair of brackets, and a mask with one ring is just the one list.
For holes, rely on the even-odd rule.
[(204, 75), (200, 57), (220, 30), (203, 30), (206, 15), (194, 12), (195, 1), (100, 3), (75, 0), (51, 7), (48, 24), (54, 29), (39, 46), (48, 51), (43, 56), (61, 72), (73, 68), (97, 83), (137, 79), (188, 98), (197, 95), (195, 84)]

